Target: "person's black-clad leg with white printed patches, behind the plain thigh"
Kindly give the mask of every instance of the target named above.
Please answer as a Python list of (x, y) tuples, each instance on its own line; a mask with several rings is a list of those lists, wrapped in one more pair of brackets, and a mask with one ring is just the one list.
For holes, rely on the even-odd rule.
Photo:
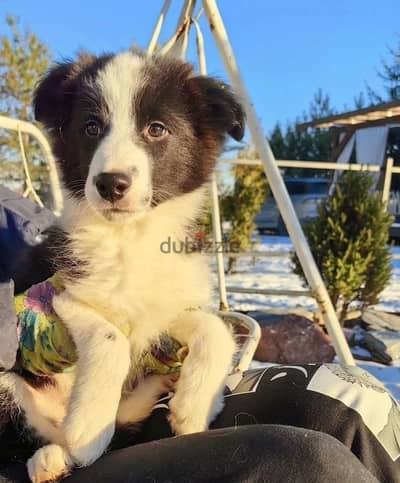
[[(231, 376), (229, 385), (211, 429), (273, 424), (320, 431), (347, 446), (380, 481), (400, 482), (400, 410), (365, 371), (336, 364), (271, 364)], [(141, 431), (120, 435), (114, 447), (171, 437), (167, 403), (168, 398), (160, 401)]]

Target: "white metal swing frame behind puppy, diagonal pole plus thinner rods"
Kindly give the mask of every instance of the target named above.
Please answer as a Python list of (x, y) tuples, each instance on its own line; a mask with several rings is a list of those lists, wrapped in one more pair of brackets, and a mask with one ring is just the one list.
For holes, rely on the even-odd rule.
[[(156, 22), (153, 35), (148, 45), (149, 55), (152, 55), (155, 52), (160, 32), (170, 5), (171, 0), (165, 0), (160, 16)], [(180, 57), (181, 59), (184, 59), (188, 45), (189, 29), (191, 24), (193, 24), (196, 30), (199, 71), (201, 74), (205, 75), (207, 71), (204, 54), (204, 41), (198, 23), (198, 19), (204, 11), (210, 26), (211, 33), (214, 37), (215, 43), (225, 65), (225, 68), (229, 74), (232, 85), (243, 103), (253, 144), (260, 155), (262, 164), (264, 166), (265, 174), (269, 182), (269, 186), (275, 197), (282, 218), (286, 224), (289, 236), (292, 239), (297, 256), (299, 257), (308, 285), (311, 289), (311, 294), (319, 305), (327, 330), (332, 338), (336, 354), (338, 355), (342, 363), (354, 365), (355, 363), (353, 356), (347, 344), (343, 330), (337, 319), (325, 284), (319, 273), (318, 267), (308, 246), (300, 223), (297, 219), (296, 212), (293, 208), (286, 186), (279, 172), (279, 168), (276, 164), (274, 155), (258, 122), (255, 109), (251, 103), (245, 84), (241, 78), (239, 68), (236, 63), (236, 59), (230, 45), (228, 34), (225, 30), (225, 26), (219, 12), (216, 0), (202, 0), (202, 8), (200, 9), (199, 14), (195, 18), (193, 18), (192, 15), (195, 5), (196, 0), (184, 1), (176, 31), (173, 37), (161, 48), (161, 51), (159, 53), (164, 54), (169, 52)], [(222, 234), (218, 205), (218, 188), (215, 176), (211, 180), (211, 200), (214, 242), (221, 243)], [(228, 311), (228, 300), (226, 294), (224, 260), (222, 253), (216, 253), (216, 262), (220, 307), (222, 310), (221, 314), (224, 315), (224, 313), (227, 313)], [(237, 316), (240, 317), (241, 314), (237, 314)], [(255, 332), (257, 332), (256, 329)], [(253, 335), (254, 342), (254, 340), (259, 337), (259, 334), (254, 333)]]

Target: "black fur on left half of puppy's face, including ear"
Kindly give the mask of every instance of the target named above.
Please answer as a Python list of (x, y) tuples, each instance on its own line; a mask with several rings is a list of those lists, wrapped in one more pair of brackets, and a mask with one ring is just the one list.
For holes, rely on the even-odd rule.
[[(42, 80), (34, 96), (35, 118), (50, 130), (64, 185), (76, 198), (84, 197), (90, 162), (108, 132), (107, 105), (94, 81), (112, 58), (83, 54), (76, 62), (59, 64)], [(86, 121), (93, 118), (103, 125), (103, 134), (96, 139), (83, 134)]]

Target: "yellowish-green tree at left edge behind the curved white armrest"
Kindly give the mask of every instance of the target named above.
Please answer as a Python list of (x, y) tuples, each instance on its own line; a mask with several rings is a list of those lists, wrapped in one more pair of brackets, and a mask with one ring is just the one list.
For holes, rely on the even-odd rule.
[[(7, 17), (8, 35), (0, 37), (0, 114), (33, 121), (32, 92), (47, 70), (48, 48), (19, 20)], [(36, 186), (48, 184), (48, 168), (34, 143), (23, 136), (31, 176)], [(16, 133), (0, 130), (0, 177), (23, 182), (23, 168)]]

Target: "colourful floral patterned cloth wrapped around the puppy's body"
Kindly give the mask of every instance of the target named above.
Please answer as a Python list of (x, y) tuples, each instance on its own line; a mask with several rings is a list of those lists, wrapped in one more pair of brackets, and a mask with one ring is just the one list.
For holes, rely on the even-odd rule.
[[(53, 309), (53, 297), (62, 290), (56, 274), (14, 299), (18, 318), (18, 365), (36, 375), (71, 372), (78, 358), (71, 335)], [(143, 373), (177, 372), (186, 355), (187, 348), (165, 334), (157, 345), (142, 354)]]

